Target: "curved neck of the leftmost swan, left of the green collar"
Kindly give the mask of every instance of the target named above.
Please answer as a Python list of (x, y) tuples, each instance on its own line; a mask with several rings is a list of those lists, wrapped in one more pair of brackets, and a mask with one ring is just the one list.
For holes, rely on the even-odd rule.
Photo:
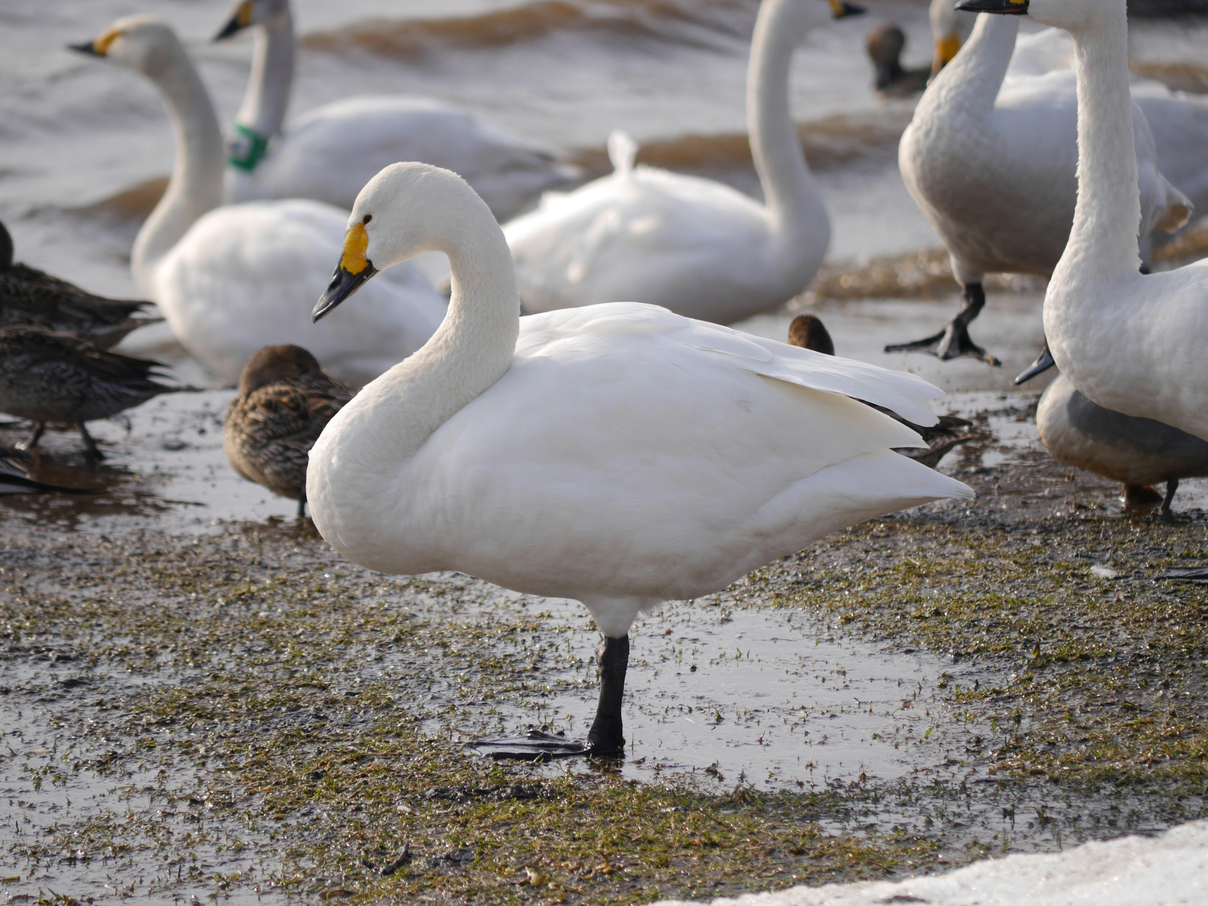
[(197, 69), (176, 43), (147, 75), (163, 98), (176, 133), (176, 163), (163, 198), (139, 230), (130, 271), (151, 298), (155, 269), (188, 228), (222, 202), (222, 132)]

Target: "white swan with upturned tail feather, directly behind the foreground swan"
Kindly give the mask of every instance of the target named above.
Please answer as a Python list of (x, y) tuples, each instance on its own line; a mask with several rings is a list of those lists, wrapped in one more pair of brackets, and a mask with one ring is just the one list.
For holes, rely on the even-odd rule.
[(789, 64), (809, 29), (854, 12), (840, 0), (763, 0), (747, 76), (751, 156), (767, 204), (713, 180), (633, 167), (614, 133), (616, 172), (504, 227), (530, 312), (637, 300), (728, 324), (788, 301), (813, 279), (830, 220), (789, 114)]

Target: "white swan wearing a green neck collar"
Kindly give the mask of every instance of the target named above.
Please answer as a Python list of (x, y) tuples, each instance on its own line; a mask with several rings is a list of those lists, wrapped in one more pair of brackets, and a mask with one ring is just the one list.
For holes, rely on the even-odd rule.
[(294, 82), (289, 0), (236, 0), (215, 40), (245, 28), (255, 29), (256, 47), (230, 146), (233, 201), (315, 198), (347, 210), (387, 164), (423, 161), (461, 174), (504, 220), (576, 176), (545, 149), (429, 98), (347, 98), (308, 111), (283, 132)]

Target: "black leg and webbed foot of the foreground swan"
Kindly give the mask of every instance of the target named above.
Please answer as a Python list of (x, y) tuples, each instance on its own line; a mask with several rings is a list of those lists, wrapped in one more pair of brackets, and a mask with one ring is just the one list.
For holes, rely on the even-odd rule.
[(587, 731), (587, 743), (568, 742), (562, 736), (551, 736), (540, 730), (530, 730), (512, 739), (483, 739), (470, 748), (490, 759), (515, 759), (521, 761), (551, 761), (580, 755), (617, 757), (625, 753), (625, 727), (621, 724), (621, 699), (625, 697), (625, 673), (629, 666), (629, 637), (605, 638), (596, 649), (600, 668), (600, 699), (596, 707), (596, 720)]

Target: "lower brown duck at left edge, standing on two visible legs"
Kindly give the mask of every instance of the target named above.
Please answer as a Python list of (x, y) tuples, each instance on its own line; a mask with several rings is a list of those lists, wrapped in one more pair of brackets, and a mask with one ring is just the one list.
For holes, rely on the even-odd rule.
[(159, 394), (191, 390), (155, 381), (163, 367), (112, 353), (66, 333), (37, 327), (0, 329), (0, 412), (28, 418), (33, 447), (47, 422), (75, 425), (88, 457), (101, 459), (86, 422), (111, 418)]

